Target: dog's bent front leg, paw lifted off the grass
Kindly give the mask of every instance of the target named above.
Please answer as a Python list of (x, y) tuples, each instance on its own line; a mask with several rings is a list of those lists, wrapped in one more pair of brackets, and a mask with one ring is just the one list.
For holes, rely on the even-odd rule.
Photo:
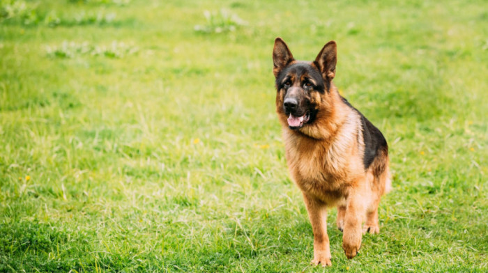
[(363, 215), (365, 208), (360, 194), (349, 194), (346, 201), (346, 216), (344, 219), (344, 234), (342, 235), (342, 249), (347, 258), (354, 258), (361, 247)]

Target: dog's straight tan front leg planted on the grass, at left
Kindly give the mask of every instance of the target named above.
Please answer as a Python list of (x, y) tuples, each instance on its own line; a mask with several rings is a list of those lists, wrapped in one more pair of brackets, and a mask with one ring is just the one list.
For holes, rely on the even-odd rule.
[(307, 207), (308, 217), (314, 232), (314, 259), (312, 264), (319, 263), (325, 267), (330, 266), (330, 246), (327, 235), (327, 206), (325, 203), (303, 194), (305, 206)]

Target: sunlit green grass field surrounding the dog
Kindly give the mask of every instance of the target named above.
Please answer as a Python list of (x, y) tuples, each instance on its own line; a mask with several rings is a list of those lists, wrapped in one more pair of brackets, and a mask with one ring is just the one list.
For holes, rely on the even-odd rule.
[[(486, 1), (0, 0), (0, 272), (486, 272)], [(206, 11), (207, 10), (207, 11)], [(381, 233), (333, 267), (275, 114), (275, 37), (385, 134)]]

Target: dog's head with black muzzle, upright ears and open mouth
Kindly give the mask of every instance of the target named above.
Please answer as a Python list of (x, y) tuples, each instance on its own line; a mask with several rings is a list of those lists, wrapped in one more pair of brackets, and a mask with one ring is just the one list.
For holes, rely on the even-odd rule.
[[(312, 126), (327, 111), (328, 96), (335, 77), (337, 47), (334, 41), (323, 46), (313, 62), (295, 61), (282, 38), (273, 48), (273, 73), (276, 78), (276, 107), (280, 119), (291, 130)], [(307, 130), (300, 130), (307, 131)]]

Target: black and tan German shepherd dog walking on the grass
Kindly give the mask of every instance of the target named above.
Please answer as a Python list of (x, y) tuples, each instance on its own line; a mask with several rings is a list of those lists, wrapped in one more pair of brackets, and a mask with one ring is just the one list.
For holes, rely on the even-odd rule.
[(281, 38), (275, 40), (276, 112), (288, 169), (312, 224), (312, 264), (324, 267), (332, 265), (327, 208), (337, 206), (342, 249), (351, 259), (362, 233), (379, 233), (379, 201), (391, 188), (386, 139), (337, 91), (332, 82), (336, 63), (334, 41), (315, 61), (305, 62), (293, 59)]

